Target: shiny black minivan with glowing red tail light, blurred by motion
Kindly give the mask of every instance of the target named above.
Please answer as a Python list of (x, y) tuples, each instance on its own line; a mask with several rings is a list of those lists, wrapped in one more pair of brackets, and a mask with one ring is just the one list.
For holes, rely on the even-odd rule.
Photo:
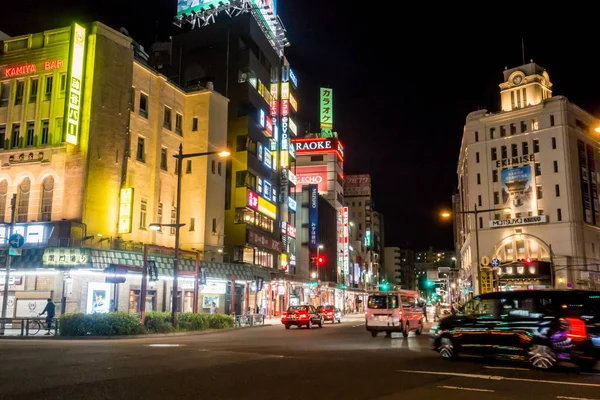
[(600, 359), (600, 291), (524, 290), (474, 297), (432, 327), (444, 358), (474, 353), (522, 360), (540, 369)]

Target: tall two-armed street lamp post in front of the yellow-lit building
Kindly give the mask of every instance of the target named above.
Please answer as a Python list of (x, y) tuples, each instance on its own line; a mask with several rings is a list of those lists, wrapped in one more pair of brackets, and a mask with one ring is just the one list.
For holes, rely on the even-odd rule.
[(175, 223), (174, 224), (150, 224), (149, 228), (153, 230), (159, 230), (161, 227), (174, 227), (175, 228), (175, 259), (173, 260), (173, 293), (172, 293), (172, 322), (173, 326), (177, 326), (177, 269), (179, 268), (179, 228), (184, 226), (180, 222), (181, 219), (181, 175), (183, 173), (183, 160), (186, 158), (195, 158), (195, 157), (203, 157), (210, 156), (213, 154), (218, 154), (219, 157), (229, 157), (231, 153), (228, 150), (222, 151), (206, 151), (203, 153), (189, 153), (183, 154), (183, 144), (179, 145), (179, 152), (175, 154), (173, 157), (177, 159), (177, 194), (175, 199)]

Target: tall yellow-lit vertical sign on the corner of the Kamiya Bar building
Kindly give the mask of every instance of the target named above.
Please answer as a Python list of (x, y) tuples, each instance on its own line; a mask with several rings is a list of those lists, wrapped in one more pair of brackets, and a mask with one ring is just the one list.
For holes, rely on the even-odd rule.
[[(67, 143), (77, 144), (79, 141), (79, 123), (81, 121), (81, 103), (83, 101), (83, 70), (85, 62), (85, 28), (73, 24), (71, 37), (71, 55), (69, 60), (69, 94), (65, 101), (67, 123), (65, 133)], [(131, 230), (131, 229), (130, 229)]]

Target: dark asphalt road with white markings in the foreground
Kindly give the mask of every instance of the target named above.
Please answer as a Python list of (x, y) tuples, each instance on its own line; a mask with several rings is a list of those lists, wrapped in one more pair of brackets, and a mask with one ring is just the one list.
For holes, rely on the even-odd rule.
[(442, 360), (426, 335), (372, 338), (362, 317), (103, 341), (0, 340), (0, 399), (600, 399), (600, 371)]

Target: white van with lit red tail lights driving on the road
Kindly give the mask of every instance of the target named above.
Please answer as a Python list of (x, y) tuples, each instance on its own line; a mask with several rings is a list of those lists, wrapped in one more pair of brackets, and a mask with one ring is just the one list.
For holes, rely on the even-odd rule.
[(379, 332), (391, 335), (402, 332), (423, 333), (423, 308), (418, 304), (419, 295), (414, 290), (395, 290), (369, 293), (365, 308), (365, 326), (371, 336)]

